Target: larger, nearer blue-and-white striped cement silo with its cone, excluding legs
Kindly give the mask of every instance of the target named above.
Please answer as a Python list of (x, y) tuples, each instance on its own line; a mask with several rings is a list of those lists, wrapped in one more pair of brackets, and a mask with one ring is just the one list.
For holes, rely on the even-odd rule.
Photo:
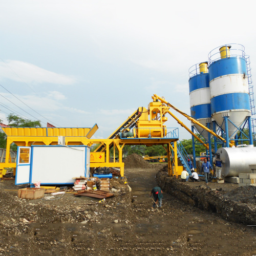
[(208, 57), (211, 117), (224, 131), (228, 117), (228, 137), (233, 139), (237, 127), (251, 115), (244, 47), (224, 45)]

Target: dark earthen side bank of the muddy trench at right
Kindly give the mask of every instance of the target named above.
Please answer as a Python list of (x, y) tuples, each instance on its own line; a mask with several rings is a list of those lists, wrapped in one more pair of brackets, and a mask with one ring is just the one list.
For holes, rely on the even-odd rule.
[(218, 190), (205, 186), (203, 182), (197, 187), (191, 187), (187, 183), (181, 183), (179, 179), (168, 177), (166, 172), (158, 172), (156, 179), (166, 193), (189, 205), (214, 212), (232, 222), (256, 225), (255, 204), (239, 203), (225, 198)]

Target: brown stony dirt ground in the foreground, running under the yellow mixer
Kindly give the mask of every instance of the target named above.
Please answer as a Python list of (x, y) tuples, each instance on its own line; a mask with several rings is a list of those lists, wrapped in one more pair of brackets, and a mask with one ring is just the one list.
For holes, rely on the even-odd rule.
[[(229, 222), (164, 191), (163, 207), (151, 209), (150, 191), (163, 166), (126, 168), (131, 193), (123, 179), (112, 179), (119, 191), (94, 205), (88, 204), (98, 199), (73, 194), (20, 200), (17, 191), (10, 190), (23, 186), (13, 180), (0, 182), (0, 255), (256, 254), (255, 226)], [(232, 200), (244, 200), (232, 193), (238, 185), (209, 186), (224, 189)]]

